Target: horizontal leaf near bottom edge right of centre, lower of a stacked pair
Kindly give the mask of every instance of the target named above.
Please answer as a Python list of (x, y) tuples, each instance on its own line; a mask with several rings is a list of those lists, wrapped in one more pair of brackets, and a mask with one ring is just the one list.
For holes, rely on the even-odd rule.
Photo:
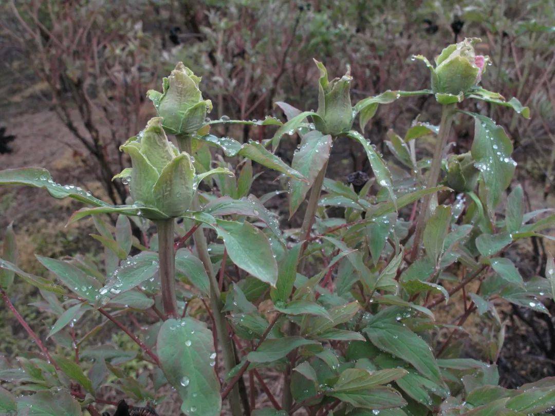
[(345, 392), (326, 393), (342, 402), (347, 402), (355, 407), (366, 409), (389, 409), (403, 407), (407, 404), (406, 400), (390, 387), (375, 387), (369, 389), (349, 390)]

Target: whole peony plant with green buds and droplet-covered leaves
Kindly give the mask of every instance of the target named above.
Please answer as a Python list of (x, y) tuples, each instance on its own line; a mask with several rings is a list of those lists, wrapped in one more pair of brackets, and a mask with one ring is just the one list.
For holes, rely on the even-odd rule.
[[(317, 62), (317, 111), (277, 103), (285, 122), (206, 120), (211, 105), (200, 78), (180, 63), (162, 93), (148, 93), (158, 117), (121, 148), (132, 165), (115, 178), (129, 185), (126, 205), (57, 184), (44, 169), (0, 171), (0, 184), (87, 205), (70, 221), (92, 216), (93, 238), (104, 248), (102, 261), (38, 256), (47, 273), (35, 276), (18, 267), (8, 228), (0, 295), (37, 351), (2, 361), (0, 411), (153, 414), (166, 394), (179, 397), (184, 414), (208, 416), (552, 409), (552, 378), (517, 389), (498, 385), (499, 303), (548, 314), (544, 303), (555, 296), (552, 257), (543, 276), (524, 278), (504, 254), (518, 240), (550, 238), (555, 218), (548, 210), (525, 213), (519, 186), (506, 195), (516, 168), (511, 140), (464, 106), (478, 99), (529, 116), (517, 99), (477, 86), (487, 58), (476, 55), (476, 42), (450, 45), (435, 68), (428, 64), (430, 89), (387, 91), (355, 105), (349, 71), (330, 82)], [(439, 124), (415, 120), (404, 135), (390, 131), (392, 158), (384, 158), (364, 136), (378, 106), (426, 94), (440, 104)], [(475, 123), (471, 148), (446, 155), (453, 120), (467, 117)], [(220, 123), (276, 129), (261, 142), (239, 143), (210, 132)], [(275, 149), (295, 135), (301, 143), (289, 166)], [(356, 189), (326, 177), (340, 139), (355, 140), (369, 159), (373, 177)], [(426, 141), (435, 142), (431, 157), (416, 150)], [(287, 178), (289, 214), (302, 217), (301, 227), (284, 229), (266, 208), (276, 192), (250, 194), (256, 164)], [(210, 190), (201, 189), (209, 175)], [(39, 289), (37, 305), (56, 317), (45, 339), (12, 302), (16, 275)], [(446, 303), (460, 311), (455, 324), (436, 313)], [(485, 329), (468, 351), (462, 328), (472, 315)], [(136, 348), (99, 345), (97, 334), (109, 323)], [(282, 387), (268, 385), (268, 374)], [(107, 398), (108, 389), (127, 401)], [(264, 407), (249, 400), (259, 390)]]

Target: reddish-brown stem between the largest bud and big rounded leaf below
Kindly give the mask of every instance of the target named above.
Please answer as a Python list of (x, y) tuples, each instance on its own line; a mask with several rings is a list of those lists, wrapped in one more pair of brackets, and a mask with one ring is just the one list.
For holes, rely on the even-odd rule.
[(160, 283), (162, 285), (162, 305), (166, 317), (177, 317), (175, 299), (175, 250), (174, 220), (155, 221), (158, 229), (158, 258), (160, 263)]

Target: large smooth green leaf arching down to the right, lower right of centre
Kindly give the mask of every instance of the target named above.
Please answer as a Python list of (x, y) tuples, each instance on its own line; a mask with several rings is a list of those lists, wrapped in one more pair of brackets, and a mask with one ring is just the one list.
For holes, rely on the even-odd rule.
[(375, 320), (364, 328), (364, 332), (376, 347), (411, 363), (423, 376), (443, 385), (430, 346), (410, 329), (399, 323)]

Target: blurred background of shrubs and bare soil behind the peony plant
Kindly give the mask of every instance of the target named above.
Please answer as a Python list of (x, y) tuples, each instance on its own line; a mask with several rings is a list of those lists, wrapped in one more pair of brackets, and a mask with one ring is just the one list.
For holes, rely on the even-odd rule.
[[(203, 77), (203, 96), (214, 103), (212, 119), (224, 115), (284, 119), (276, 101), (307, 110), (317, 107), (318, 72), (312, 58), (335, 75), (350, 65), (356, 103), (387, 89), (426, 88), (429, 72), (411, 60), (413, 54), (432, 58), (449, 43), (480, 37), (477, 49), (492, 61), (483, 87), (507, 99), (517, 97), (532, 116), (524, 119), (477, 102), (464, 105), (472, 111), (489, 111), (506, 128), (518, 161), (516, 177), (532, 182), (532, 198), (526, 195), (528, 208), (543, 207), (553, 197), (555, 179), (554, 26), (552, 0), (3, 1), (0, 168), (46, 165), (60, 181), (86, 185), (95, 194), (122, 202), (125, 187), (112, 177), (129, 161), (117, 149), (154, 115), (145, 93), (160, 89), (159, 79), (180, 60)], [(403, 134), (417, 117), (437, 120), (437, 108), (432, 96), (380, 106), (365, 135), (387, 158), (387, 131)], [(454, 128), (456, 153), (464, 153), (473, 126), (465, 122)], [(238, 140), (267, 139), (273, 133), (264, 126), (219, 129), (217, 134)], [(290, 163), (296, 145), (295, 140), (283, 145), (280, 156)], [(345, 180), (353, 171), (369, 170), (357, 146), (337, 144), (330, 163), (332, 177)], [(52, 149), (56, 154), (46, 160)], [(266, 183), (276, 186), (270, 180)], [(92, 255), (98, 252), (78, 228), (82, 225), (64, 229), (59, 219), (72, 211), (65, 202), (42, 205), (47, 196), (37, 194), (13, 189), (0, 193), (0, 229), (13, 220), (18, 237), (31, 235), (20, 240), (22, 268), (38, 272), (34, 251), (47, 256), (70, 255), (77, 247)], [(53, 212), (53, 206), (64, 214)], [(36, 221), (24, 225), (23, 219), (28, 221), (30, 215)], [(532, 241), (532, 247), (522, 247), (524, 261), (519, 267), (537, 272), (546, 248), (541, 241)], [(36, 299), (36, 293), (29, 291), (16, 291), (14, 302), (33, 322), (36, 309), (24, 306)], [(506, 385), (546, 376), (543, 366), (522, 371), (514, 367), (519, 360), (516, 351), (529, 339), (538, 338), (530, 348), (542, 359), (552, 360), (555, 353), (552, 320), (522, 313), (513, 316), (528, 329), (516, 331), (514, 347), (506, 348)], [(1, 310), (0, 322), (9, 319)], [(14, 334), (17, 343), (2, 337), (0, 353), (11, 355), (16, 344), (24, 346), (16, 322), (12, 329), (19, 333)], [(476, 331), (488, 337), (486, 329)]]

